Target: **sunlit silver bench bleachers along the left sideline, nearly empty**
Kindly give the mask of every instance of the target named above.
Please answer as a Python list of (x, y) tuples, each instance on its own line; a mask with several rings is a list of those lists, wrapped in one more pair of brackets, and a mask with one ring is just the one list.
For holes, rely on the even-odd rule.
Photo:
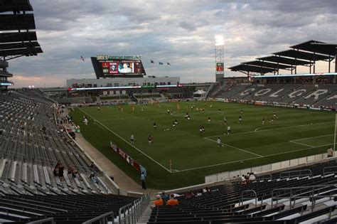
[[(55, 106), (55, 104), (54, 104)], [(53, 102), (36, 90), (0, 95), (0, 194), (112, 193), (111, 182), (97, 172), (62, 126), (55, 124)], [(63, 164), (64, 181), (53, 167)], [(78, 171), (75, 178), (68, 166)]]

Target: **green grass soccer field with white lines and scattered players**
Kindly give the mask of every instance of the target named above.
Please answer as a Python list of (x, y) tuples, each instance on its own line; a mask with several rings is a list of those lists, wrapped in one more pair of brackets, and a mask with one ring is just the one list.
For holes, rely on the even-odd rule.
[[(78, 107), (70, 115), (87, 141), (137, 182), (139, 173), (109, 148), (109, 142), (139, 161), (148, 172), (148, 187), (156, 189), (203, 183), (208, 174), (319, 154), (333, 146), (334, 112), (225, 102), (178, 105), (180, 109), (177, 103), (107, 106), (100, 110)], [(167, 110), (172, 110), (172, 114)], [(184, 117), (186, 112), (191, 116), (189, 122)], [(82, 122), (83, 115), (90, 119), (87, 126)], [(224, 117), (231, 127), (230, 134)], [(175, 119), (178, 124), (173, 127)], [(203, 133), (199, 131), (201, 125), (205, 127)], [(130, 144), (131, 134), (135, 137), (134, 145)], [(149, 134), (153, 138), (151, 146)]]

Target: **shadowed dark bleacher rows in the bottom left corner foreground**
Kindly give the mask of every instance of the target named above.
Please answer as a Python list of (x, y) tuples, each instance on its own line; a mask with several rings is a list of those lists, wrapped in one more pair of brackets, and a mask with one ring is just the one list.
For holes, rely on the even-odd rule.
[[(1, 223), (28, 223), (53, 218), (55, 223), (83, 223), (133, 203), (137, 198), (116, 195), (3, 195), (0, 198)], [(109, 216), (108, 221), (112, 221)]]

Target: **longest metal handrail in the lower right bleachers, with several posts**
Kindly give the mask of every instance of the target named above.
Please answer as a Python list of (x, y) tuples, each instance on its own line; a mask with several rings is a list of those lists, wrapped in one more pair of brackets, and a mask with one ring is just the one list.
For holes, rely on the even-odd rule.
[[(294, 205), (296, 203), (296, 198), (311, 198), (311, 212), (314, 210), (314, 206), (315, 206), (315, 202), (316, 202), (316, 198), (326, 198), (327, 196), (320, 196), (319, 193), (315, 193), (316, 190), (318, 190), (319, 188), (325, 188), (325, 187), (334, 187), (337, 190), (337, 185), (336, 184), (330, 184), (330, 185), (314, 185), (314, 186), (299, 186), (299, 187), (292, 187), (292, 188), (274, 188), (272, 189), (272, 207), (274, 206), (274, 200), (277, 200), (276, 206), (278, 204), (279, 199), (287, 199), (289, 198), (289, 206), (291, 207), (291, 201), (294, 200)], [(294, 191), (294, 190), (305, 190), (305, 189), (310, 189), (310, 195), (309, 196), (297, 196), (297, 195), (301, 195), (303, 193), (298, 192), (298, 191)], [(290, 191), (290, 196), (274, 196), (275, 191)], [(308, 193), (308, 192), (307, 192)], [(287, 194), (286, 192), (284, 192), (284, 194)], [(283, 195), (284, 195), (283, 194)], [(316, 194), (316, 195), (315, 195)], [(330, 198), (333, 194), (333, 191), (331, 191), (330, 193)]]

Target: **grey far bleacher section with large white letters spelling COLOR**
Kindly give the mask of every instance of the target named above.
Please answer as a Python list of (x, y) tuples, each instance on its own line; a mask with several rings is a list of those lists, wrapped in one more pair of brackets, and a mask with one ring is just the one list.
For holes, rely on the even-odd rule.
[(337, 105), (336, 85), (223, 85), (213, 97), (287, 105)]

